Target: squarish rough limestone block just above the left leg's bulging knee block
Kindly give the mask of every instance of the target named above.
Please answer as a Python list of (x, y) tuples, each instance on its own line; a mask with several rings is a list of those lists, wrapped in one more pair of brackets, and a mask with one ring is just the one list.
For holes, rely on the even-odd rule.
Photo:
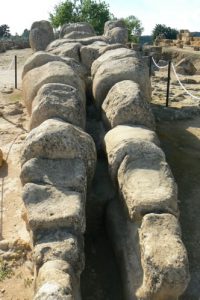
[(66, 84), (44, 84), (32, 103), (30, 129), (56, 117), (84, 129), (85, 97), (76, 88)]

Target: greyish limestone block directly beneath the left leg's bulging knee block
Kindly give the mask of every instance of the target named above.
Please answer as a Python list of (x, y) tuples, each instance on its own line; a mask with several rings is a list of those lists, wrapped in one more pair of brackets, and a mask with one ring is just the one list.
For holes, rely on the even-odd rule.
[(21, 182), (53, 185), (85, 194), (86, 167), (81, 159), (32, 158), (21, 169)]

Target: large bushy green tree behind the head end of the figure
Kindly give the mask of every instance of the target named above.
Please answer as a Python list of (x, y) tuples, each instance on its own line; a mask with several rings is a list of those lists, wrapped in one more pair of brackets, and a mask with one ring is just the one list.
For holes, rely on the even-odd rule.
[(66, 0), (55, 6), (50, 13), (50, 22), (54, 28), (65, 23), (88, 22), (98, 34), (102, 34), (104, 23), (111, 17), (109, 6), (104, 1)]

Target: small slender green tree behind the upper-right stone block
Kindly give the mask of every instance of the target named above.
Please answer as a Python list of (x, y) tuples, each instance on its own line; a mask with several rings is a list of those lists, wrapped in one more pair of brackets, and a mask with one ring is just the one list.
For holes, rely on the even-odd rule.
[(128, 29), (128, 39), (130, 42), (138, 42), (144, 28), (141, 21), (135, 16), (131, 15), (124, 19)]

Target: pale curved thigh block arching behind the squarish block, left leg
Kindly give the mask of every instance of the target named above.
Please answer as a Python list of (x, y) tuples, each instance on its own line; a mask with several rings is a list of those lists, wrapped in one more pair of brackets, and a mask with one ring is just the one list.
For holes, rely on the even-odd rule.
[(29, 114), (32, 110), (32, 102), (39, 89), (46, 83), (63, 83), (78, 89), (84, 98), (85, 83), (68, 65), (59, 61), (52, 61), (41, 67), (35, 68), (23, 78), (23, 99)]

